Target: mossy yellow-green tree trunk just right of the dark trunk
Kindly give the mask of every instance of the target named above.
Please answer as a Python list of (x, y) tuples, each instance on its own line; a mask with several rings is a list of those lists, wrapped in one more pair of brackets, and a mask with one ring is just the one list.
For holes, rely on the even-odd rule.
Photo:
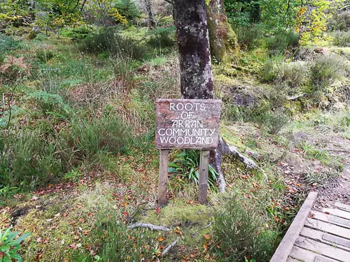
[(223, 0), (210, 0), (207, 8), (211, 55), (218, 62), (228, 62), (230, 54), (237, 54), (235, 31), (228, 23)]

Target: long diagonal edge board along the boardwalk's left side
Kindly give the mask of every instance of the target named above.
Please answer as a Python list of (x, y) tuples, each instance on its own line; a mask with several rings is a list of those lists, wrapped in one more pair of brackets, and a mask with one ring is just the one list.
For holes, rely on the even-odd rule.
[(288, 254), (290, 250), (293, 248), (294, 242), (297, 239), (300, 231), (302, 231), (302, 227), (304, 226), (305, 220), (309, 217), (309, 212), (313, 207), (317, 198), (317, 192), (311, 191), (307, 199), (302, 204), (299, 212), (295, 216), (292, 224), (289, 226), (286, 235), (282, 239), (279, 247), (277, 247), (276, 252), (274, 252), (274, 256), (270, 262), (284, 262), (288, 258)]

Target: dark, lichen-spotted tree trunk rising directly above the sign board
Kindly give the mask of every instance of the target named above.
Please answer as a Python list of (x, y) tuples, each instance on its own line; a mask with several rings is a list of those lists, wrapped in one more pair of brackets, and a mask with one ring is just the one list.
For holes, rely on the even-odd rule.
[(184, 99), (212, 99), (213, 73), (204, 0), (174, 0)]

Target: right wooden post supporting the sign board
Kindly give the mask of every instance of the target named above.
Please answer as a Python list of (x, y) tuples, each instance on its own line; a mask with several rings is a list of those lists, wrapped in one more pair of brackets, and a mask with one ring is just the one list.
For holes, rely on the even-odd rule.
[(200, 204), (207, 203), (209, 152), (209, 150), (202, 150), (200, 152)]

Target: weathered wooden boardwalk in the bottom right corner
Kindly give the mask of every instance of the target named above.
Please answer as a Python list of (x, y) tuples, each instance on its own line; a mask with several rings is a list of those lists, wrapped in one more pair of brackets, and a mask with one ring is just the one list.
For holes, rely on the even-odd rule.
[(350, 262), (350, 205), (313, 210), (311, 192), (270, 262)]

